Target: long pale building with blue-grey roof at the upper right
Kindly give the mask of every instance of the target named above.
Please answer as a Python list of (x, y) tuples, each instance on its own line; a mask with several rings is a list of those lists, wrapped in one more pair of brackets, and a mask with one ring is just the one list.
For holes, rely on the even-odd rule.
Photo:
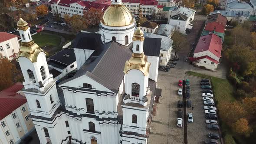
[(232, 21), (236, 21), (237, 23), (243, 23), (246, 20), (249, 20), (249, 11), (235, 11), (235, 10), (215, 10), (211, 12), (209, 15), (213, 15), (216, 13), (220, 13), (225, 16), (227, 22), (230, 23)]

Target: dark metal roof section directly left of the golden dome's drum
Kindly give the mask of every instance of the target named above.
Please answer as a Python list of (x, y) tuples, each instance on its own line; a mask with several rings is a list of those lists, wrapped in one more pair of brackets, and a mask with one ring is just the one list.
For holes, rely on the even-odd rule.
[(97, 33), (79, 33), (76, 35), (73, 48), (95, 50), (102, 45), (101, 34)]

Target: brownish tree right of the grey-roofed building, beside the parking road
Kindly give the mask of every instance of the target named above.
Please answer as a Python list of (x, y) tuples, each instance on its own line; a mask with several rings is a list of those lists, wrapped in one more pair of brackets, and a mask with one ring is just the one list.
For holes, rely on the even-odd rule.
[(175, 29), (171, 39), (173, 40), (174, 59), (175, 59), (177, 57), (178, 52), (184, 46), (187, 46), (187, 37)]

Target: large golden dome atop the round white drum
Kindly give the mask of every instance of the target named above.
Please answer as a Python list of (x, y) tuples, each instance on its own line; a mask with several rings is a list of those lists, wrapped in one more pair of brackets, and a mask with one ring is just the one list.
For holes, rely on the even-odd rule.
[(131, 12), (122, 4), (108, 7), (102, 21), (107, 26), (128, 26), (133, 22)]

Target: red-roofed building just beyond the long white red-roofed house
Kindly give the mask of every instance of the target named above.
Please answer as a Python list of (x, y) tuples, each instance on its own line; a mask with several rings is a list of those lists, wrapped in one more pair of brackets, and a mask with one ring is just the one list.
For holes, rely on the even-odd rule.
[(215, 31), (218, 33), (224, 33), (226, 27), (226, 17), (221, 15), (220, 13), (216, 13), (208, 16), (207, 22), (205, 24), (205, 30), (207, 31)]

